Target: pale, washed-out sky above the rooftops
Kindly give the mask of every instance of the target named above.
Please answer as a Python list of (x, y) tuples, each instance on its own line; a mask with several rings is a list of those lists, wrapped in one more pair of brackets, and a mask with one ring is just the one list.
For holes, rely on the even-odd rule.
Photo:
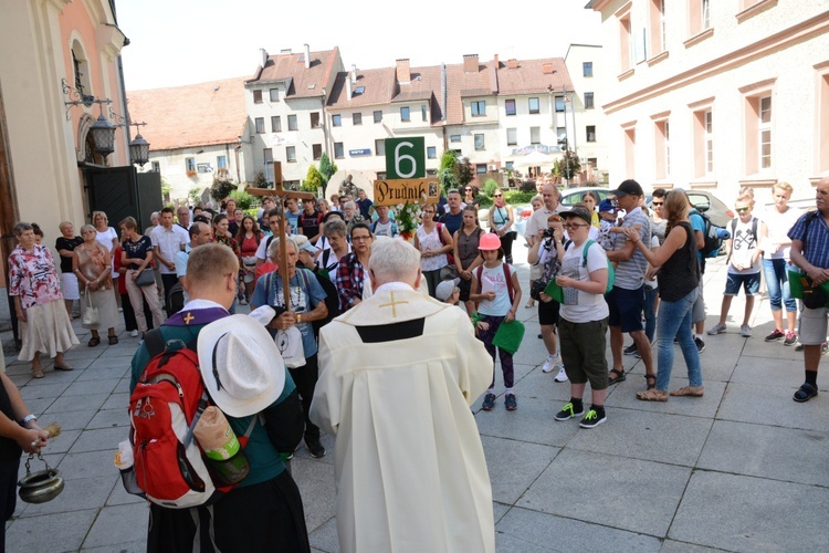
[(586, 0), (460, 2), (379, 0), (118, 0), (126, 87), (158, 88), (250, 75), (259, 49), (339, 46), (350, 67), (461, 63), (463, 54), (564, 56), (570, 43), (599, 44), (600, 15)]

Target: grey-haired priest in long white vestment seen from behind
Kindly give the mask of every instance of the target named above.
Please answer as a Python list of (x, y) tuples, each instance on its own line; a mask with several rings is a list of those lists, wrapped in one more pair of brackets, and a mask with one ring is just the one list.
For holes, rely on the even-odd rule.
[(319, 332), (311, 419), (336, 437), (344, 552), (494, 552), (492, 488), (470, 410), (492, 358), (466, 314), (416, 292), (420, 253), (378, 241), (374, 295)]

